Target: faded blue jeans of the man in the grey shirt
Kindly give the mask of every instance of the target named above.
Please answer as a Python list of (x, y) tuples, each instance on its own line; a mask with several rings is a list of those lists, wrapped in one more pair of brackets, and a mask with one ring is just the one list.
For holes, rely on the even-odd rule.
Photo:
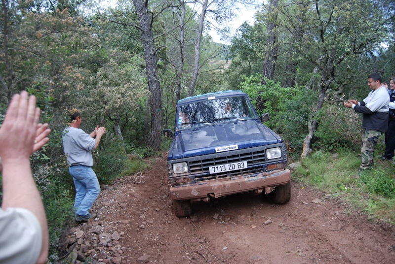
[(96, 173), (91, 167), (75, 165), (69, 167), (76, 186), (76, 200), (74, 211), (79, 215), (87, 215), (93, 202), (99, 197), (100, 185)]

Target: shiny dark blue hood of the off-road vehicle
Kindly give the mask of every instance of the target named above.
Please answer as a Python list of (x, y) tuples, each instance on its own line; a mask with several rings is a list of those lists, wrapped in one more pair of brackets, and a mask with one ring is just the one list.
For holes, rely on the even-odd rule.
[(235, 121), (201, 126), (177, 132), (168, 159), (180, 159), (212, 154), (218, 147), (229, 150), (251, 148), (282, 142), (275, 132), (256, 120)]

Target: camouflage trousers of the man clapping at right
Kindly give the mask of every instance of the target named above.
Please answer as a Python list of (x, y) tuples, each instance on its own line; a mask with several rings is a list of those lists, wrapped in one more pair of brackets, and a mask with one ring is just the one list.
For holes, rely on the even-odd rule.
[(361, 157), (362, 164), (359, 166), (360, 169), (369, 169), (373, 166), (373, 157), (374, 157), (374, 146), (379, 140), (380, 135), (383, 132), (378, 130), (364, 129), (363, 137), (362, 137), (362, 148), (361, 148)]

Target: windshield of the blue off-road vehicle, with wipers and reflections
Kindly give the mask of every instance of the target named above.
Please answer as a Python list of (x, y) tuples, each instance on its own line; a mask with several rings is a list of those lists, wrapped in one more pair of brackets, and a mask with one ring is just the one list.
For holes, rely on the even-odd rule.
[(244, 96), (208, 99), (182, 104), (177, 108), (177, 130), (257, 118)]

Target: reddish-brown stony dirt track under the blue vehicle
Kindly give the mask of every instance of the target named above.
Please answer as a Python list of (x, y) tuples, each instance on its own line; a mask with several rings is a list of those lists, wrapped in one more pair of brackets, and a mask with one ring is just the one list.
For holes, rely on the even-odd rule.
[(395, 264), (395, 227), (347, 216), (345, 205), (292, 182), (291, 200), (239, 194), (173, 214), (166, 157), (102, 189), (97, 217), (62, 238), (63, 263)]

